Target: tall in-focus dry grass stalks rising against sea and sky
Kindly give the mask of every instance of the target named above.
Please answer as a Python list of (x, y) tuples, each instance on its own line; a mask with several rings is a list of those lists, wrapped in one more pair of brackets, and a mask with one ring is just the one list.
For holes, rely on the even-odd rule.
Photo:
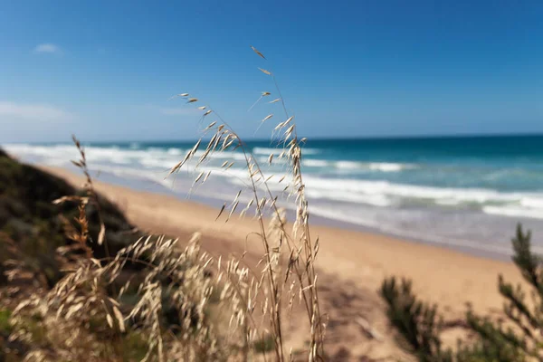
[[(266, 60), (262, 52), (254, 47), (252, 51), (262, 60)], [(254, 210), (260, 230), (252, 236), (262, 244), (262, 258), (259, 271), (242, 267), (242, 260), (232, 260), (227, 266), (226, 288), (232, 291), (228, 298), (235, 300), (233, 319), (246, 335), (246, 344), (251, 346), (255, 338), (262, 335), (262, 322), (259, 324), (253, 319), (253, 311), (257, 306), (260, 307), (265, 317), (263, 320), (267, 323), (274, 341), (274, 357), (277, 360), (285, 360), (288, 358), (284, 346), (285, 306), (292, 307), (295, 300), (300, 300), (308, 322), (308, 360), (318, 360), (324, 357), (325, 320), (319, 310), (315, 267), (319, 240), (314, 239), (310, 233), (310, 213), (301, 173), (302, 150), (306, 139), (299, 138), (295, 117), (286, 108), (274, 73), (268, 69), (259, 70), (271, 77), (277, 94), (277, 98), (269, 103), (280, 104), (284, 115), (284, 119), (274, 127), (272, 138), (281, 148), (277, 158), (286, 164), (285, 174), (267, 175), (263, 165), (252, 155), (250, 149), (246, 148), (239, 134), (209, 105), (198, 107), (203, 112), (201, 119), (214, 118), (214, 120), (205, 127), (205, 135), (198, 139), (195, 146), (187, 151), (186, 156), (170, 169), (169, 174), (175, 174), (182, 167), (192, 167), (196, 175), (194, 186), (197, 186), (205, 183), (210, 176), (212, 171), (200, 171), (200, 167), (205, 165), (214, 153), (236, 149), (241, 151), (243, 166), (247, 171), (247, 176), (243, 179), (245, 187), (237, 192), (232, 203), (223, 205), (217, 218), (224, 215), (224, 221), (227, 222), (240, 207), (240, 195), (242, 193), (249, 195), (249, 201), (242, 206), (241, 214), (246, 214), (251, 208)], [(265, 97), (271, 97), (271, 93), (263, 91), (257, 102)], [(180, 93), (176, 97), (185, 99), (189, 104), (200, 101), (189, 93)], [(261, 125), (270, 121), (272, 117), (274, 117), (272, 113), (264, 117), (260, 122)], [(202, 149), (202, 153), (198, 157), (199, 149)], [(271, 164), (273, 157), (273, 154), (268, 157), (268, 164)], [(234, 162), (234, 160), (224, 161), (222, 165), (224, 172), (228, 172)], [(283, 192), (287, 194), (287, 199), (293, 200), (296, 210), (292, 224), (287, 224), (284, 211), (277, 205), (282, 193), (274, 195), (271, 192), (271, 182), (285, 184)], [(268, 224), (265, 222), (266, 217), (270, 219)], [(223, 271), (219, 272), (222, 276)], [(230, 283), (233, 283), (233, 286), (230, 286)]]

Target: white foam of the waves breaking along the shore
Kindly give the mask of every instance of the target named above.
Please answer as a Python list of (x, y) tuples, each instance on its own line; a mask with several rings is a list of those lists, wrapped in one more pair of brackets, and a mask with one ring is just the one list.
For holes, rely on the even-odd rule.
[[(71, 145), (32, 146), (11, 144), (3, 146), (8, 153), (23, 159), (28, 158), (48, 165), (66, 166), (70, 159), (79, 157), (78, 151)], [(259, 150), (259, 148), (254, 148)], [(91, 166), (102, 165), (110, 169), (122, 169), (125, 176), (165, 171), (179, 162), (185, 150), (180, 148), (104, 148), (90, 146), (86, 148)], [(274, 148), (260, 148), (261, 154), (275, 151)], [(200, 157), (203, 151), (196, 153)], [(262, 157), (258, 157), (259, 159)], [(234, 160), (236, 163), (227, 172), (220, 165), (224, 160)], [(223, 152), (210, 157), (210, 162), (202, 168), (212, 170), (214, 175), (227, 177), (231, 183), (247, 183), (247, 171), (243, 168), (243, 154), (239, 152)], [(241, 161), (241, 162), (240, 162)], [(189, 163), (194, 168), (195, 162)], [(394, 173), (416, 165), (397, 163), (361, 163), (353, 161), (328, 161), (325, 159), (304, 159), (306, 167), (330, 167), (344, 169), (367, 169), (370, 171)], [(281, 165), (279, 165), (281, 167)], [(275, 165), (270, 168), (270, 174), (279, 170)], [(129, 170), (133, 170), (129, 174)], [(279, 174), (280, 172), (278, 172)], [(270, 180), (272, 190), (281, 192), (289, 182), (277, 184), (279, 176)], [(157, 180), (158, 181), (158, 180)], [(393, 183), (386, 180), (362, 180), (347, 177), (323, 178), (310, 173), (304, 176), (308, 196), (316, 200), (329, 200), (353, 205), (375, 205), (377, 207), (403, 207), (405, 205), (440, 205), (441, 207), (467, 207), (481, 210), (486, 214), (500, 214), (511, 217), (543, 218), (543, 193), (500, 192), (485, 188), (434, 187), (414, 186)]]

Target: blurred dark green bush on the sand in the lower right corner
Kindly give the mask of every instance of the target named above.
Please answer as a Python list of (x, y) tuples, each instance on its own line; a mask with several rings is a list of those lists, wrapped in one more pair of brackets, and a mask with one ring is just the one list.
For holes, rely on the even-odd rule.
[(531, 233), (519, 225), (512, 239), (513, 262), (531, 287), (531, 300), (526, 292), (498, 278), (507, 320), (495, 321), (466, 313), (466, 325), (474, 338), (459, 341), (456, 351), (443, 349), (440, 334), (444, 329), (437, 307), (418, 300), (411, 281), (398, 283), (395, 277), (383, 281), (381, 295), (387, 304), (391, 324), (401, 339), (420, 361), (515, 362), (543, 360), (543, 259), (531, 251)]

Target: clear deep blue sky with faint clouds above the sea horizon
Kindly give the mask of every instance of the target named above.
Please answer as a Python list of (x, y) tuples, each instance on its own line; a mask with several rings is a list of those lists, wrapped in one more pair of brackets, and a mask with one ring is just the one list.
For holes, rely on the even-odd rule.
[(540, 0), (0, 0), (0, 143), (193, 139), (201, 105), (267, 138), (285, 119), (259, 67), (310, 138), (543, 133), (541, 19)]

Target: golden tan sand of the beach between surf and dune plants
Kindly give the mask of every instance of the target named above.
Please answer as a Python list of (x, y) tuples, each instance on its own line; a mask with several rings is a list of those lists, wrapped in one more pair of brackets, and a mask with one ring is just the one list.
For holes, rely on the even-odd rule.
[[(82, 177), (62, 168), (47, 167), (75, 186)], [(136, 191), (96, 182), (97, 189), (125, 211), (140, 229), (167, 233), (181, 238), (196, 231), (203, 233), (204, 247), (214, 254), (241, 252), (247, 234), (256, 231), (254, 221), (233, 218), (227, 224), (214, 222), (218, 210), (179, 200), (173, 196)], [(409, 360), (395, 345), (395, 333), (387, 324), (385, 308), (377, 290), (386, 276), (413, 279), (414, 291), (424, 300), (438, 303), (445, 319), (462, 319), (466, 302), (481, 313), (499, 314), (502, 300), (497, 277), (521, 281), (511, 262), (500, 262), (455, 252), (443, 247), (406, 242), (375, 233), (361, 233), (319, 225), (318, 259), (320, 297), (329, 314), (327, 350), (334, 360)], [(513, 230), (511, 230), (513, 233)], [(258, 245), (251, 245), (256, 248)], [(292, 343), (301, 343), (296, 319), (291, 327)], [(370, 337), (367, 328), (376, 332)], [(447, 342), (454, 344), (462, 332), (452, 331)]]

